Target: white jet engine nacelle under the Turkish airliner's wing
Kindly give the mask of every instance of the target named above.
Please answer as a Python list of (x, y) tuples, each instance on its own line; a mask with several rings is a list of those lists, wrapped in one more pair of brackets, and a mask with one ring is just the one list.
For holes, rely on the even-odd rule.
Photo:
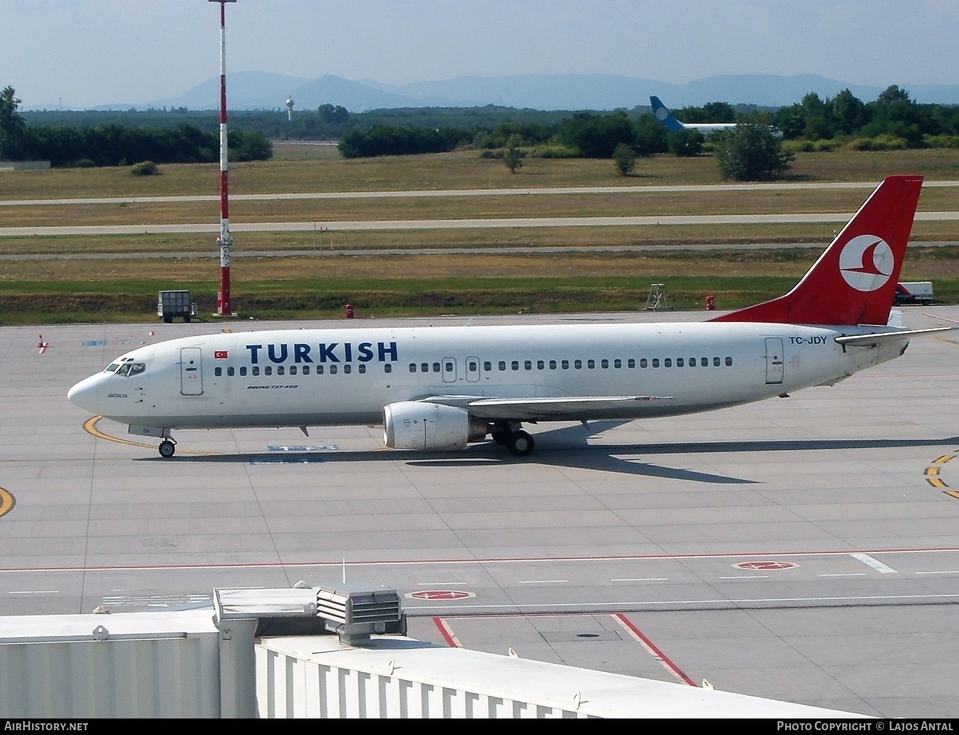
[(486, 436), (489, 425), (452, 405), (403, 401), (383, 409), (383, 441), (395, 449), (458, 449)]

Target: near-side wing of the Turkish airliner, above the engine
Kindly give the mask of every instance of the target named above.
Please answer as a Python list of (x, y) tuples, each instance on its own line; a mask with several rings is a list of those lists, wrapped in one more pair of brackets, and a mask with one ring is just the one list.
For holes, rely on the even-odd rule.
[(594, 411), (625, 408), (636, 402), (671, 401), (672, 396), (601, 396), (563, 398), (478, 398), (476, 396), (431, 396), (423, 399), (465, 408), (480, 419), (562, 419), (569, 416), (578, 421), (582, 414)]

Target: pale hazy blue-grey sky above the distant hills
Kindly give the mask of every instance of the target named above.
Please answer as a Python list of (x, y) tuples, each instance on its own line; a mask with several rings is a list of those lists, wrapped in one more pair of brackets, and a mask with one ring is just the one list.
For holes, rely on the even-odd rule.
[[(220, 74), (209, 0), (0, 0), (0, 29), (0, 87), (24, 109), (150, 102)], [(959, 0), (238, 0), (226, 54), (227, 80), (819, 74), (908, 89), (959, 83)]]

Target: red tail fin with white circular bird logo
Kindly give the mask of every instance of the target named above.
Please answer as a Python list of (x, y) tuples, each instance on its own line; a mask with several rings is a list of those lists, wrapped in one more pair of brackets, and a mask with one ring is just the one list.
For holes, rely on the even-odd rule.
[(795, 288), (712, 321), (886, 324), (922, 188), (922, 176), (889, 176)]

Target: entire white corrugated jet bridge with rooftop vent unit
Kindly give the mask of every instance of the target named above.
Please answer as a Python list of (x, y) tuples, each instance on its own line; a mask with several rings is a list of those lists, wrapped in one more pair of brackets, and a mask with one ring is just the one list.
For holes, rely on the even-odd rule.
[(0, 719), (861, 717), (450, 648), (404, 626), (395, 590), (302, 583), (215, 589), (212, 610), (0, 617)]

